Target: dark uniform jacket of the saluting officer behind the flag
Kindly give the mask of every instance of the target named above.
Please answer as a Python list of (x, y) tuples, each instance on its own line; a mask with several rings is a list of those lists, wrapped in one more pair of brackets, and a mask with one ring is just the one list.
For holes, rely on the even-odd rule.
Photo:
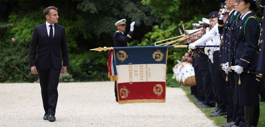
[(113, 42), (114, 47), (127, 47), (127, 43), (131, 42), (131, 37), (133, 36), (133, 33), (129, 31), (127, 36), (121, 33), (121, 31), (117, 30), (113, 34)]

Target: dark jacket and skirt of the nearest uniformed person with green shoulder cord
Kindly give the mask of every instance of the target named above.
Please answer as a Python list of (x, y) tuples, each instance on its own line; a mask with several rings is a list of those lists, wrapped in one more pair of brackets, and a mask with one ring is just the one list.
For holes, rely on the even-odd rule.
[[(247, 21), (247, 19), (249, 20)], [(247, 21), (246, 25), (245, 22)], [(246, 27), (245, 27), (246, 26)], [(244, 30), (245, 29), (245, 30)], [(257, 45), (259, 37), (259, 23), (254, 17), (254, 13), (247, 14), (244, 19), (239, 19), (235, 31), (234, 42), (234, 65), (244, 68), (244, 71), (254, 71), (257, 60)], [(241, 106), (259, 105), (257, 77), (252, 74), (243, 72), (234, 74), (235, 90), (234, 104)], [(237, 83), (241, 78), (241, 85)]]

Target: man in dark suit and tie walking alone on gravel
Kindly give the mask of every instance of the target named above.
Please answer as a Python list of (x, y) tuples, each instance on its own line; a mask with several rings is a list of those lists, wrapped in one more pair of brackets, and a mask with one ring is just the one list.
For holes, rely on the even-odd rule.
[(31, 72), (39, 76), (45, 110), (43, 119), (49, 121), (56, 120), (59, 76), (60, 72), (66, 73), (69, 65), (65, 28), (56, 24), (59, 19), (57, 11), (58, 9), (54, 6), (44, 9), (43, 15), (46, 22), (35, 27), (30, 45)]

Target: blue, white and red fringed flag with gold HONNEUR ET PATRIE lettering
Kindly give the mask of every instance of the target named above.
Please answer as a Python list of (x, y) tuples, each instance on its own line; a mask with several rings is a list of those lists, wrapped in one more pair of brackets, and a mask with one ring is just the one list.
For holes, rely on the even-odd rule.
[(168, 47), (114, 47), (108, 72), (116, 81), (119, 104), (164, 103)]

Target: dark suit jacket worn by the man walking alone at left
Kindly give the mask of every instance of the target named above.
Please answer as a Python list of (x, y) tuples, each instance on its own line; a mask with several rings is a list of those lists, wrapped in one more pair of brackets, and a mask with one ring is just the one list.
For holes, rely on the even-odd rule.
[(30, 66), (36, 66), (37, 70), (48, 70), (52, 66), (61, 70), (62, 58), (63, 66), (69, 66), (65, 28), (55, 24), (54, 39), (49, 41), (46, 24), (36, 26), (30, 45)]

